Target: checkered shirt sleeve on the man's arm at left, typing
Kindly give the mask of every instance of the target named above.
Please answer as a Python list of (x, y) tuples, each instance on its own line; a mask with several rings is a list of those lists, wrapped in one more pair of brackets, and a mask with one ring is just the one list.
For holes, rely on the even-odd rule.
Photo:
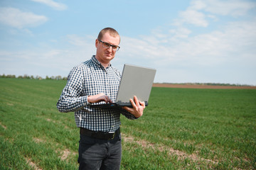
[(68, 82), (57, 103), (58, 111), (67, 113), (88, 106), (87, 96), (82, 96), (82, 74), (74, 67), (68, 75)]

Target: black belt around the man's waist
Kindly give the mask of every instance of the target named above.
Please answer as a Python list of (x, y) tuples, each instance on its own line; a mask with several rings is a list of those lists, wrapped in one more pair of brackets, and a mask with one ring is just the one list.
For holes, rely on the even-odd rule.
[(114, 137), (120, 134), (120, 128), (115, 132), (96, 132), (93, 130), (87, 130), (85, 128), (80, 128), (80, 135), (86, 135), (89, 137), (94, 137), (99, 140), (113, 140)]

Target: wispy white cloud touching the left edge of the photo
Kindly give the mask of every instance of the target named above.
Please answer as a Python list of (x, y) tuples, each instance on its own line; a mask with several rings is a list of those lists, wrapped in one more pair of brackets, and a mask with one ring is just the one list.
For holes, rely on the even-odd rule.
[(46, 21), (46, 16), (20, 11), (18, 8), (0, 8), (0, 23), (14, 28), (34, 27)]

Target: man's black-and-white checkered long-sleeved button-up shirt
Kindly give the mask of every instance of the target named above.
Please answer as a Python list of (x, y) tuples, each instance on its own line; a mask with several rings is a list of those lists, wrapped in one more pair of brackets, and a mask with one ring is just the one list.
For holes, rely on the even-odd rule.
[[(87, 96), (106, 94), (115, 102), (121, 73), (110, 64), (106, 69), (95, 56), (74, 67), (68, 75), (57, 108), (60, 112), (75, 111), (75, 123), (78, 127), (94, 131), (114, 132), (119, 128), (120, 113), (129, 119), (134, 115), (122, 108), (92, 108)], [(101, 102), (105, 103), (105, 102)]]

